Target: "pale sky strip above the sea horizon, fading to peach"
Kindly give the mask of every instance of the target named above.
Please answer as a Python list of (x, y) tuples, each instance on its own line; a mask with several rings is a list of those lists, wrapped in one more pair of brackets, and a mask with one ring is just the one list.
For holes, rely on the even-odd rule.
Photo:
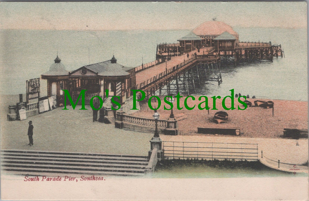
[(0, 29), (174, 30), (307, 27), (307, 2), (0, 2)]

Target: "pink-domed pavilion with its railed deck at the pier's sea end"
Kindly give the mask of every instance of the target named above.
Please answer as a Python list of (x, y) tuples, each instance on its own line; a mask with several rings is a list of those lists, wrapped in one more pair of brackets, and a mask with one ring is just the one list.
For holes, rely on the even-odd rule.
[[(208, 21), (180, 38), (178, 43), (157, 45), (157, 59), (170, 56), (203, 52), (203, 55), (219, 55), (220, 60), (234, 64), (252, 61), (273, 61), (273, 57), (283, 57), (281, 45), (271, 42), (239, 42), (239, 35), (224, 22)], [(192, 54), (192, 53), (191, 53)]]

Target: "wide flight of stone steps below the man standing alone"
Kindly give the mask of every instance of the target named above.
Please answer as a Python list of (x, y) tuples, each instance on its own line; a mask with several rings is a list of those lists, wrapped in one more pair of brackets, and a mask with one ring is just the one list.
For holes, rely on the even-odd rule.
[(141, 176), (146, 156), (65, 153), (46, 151), (1, 151), (2, 170), (21, 175), (115, 175)]

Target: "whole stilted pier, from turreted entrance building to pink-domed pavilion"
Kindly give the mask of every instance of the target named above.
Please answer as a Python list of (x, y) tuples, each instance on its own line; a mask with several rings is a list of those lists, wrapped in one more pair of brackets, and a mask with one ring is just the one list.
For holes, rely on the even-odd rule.
[(126, 67), (117, 63), (113, 56), (110, 60), (68, 72), (57, 57), (50, 70), (42, 74), (42, 79), (47, 79), (47, 95), (55, 95), (58, 106), (65, 102), (62, 90), (68, 90), (74, 102), (82, 90), (87, 90), (86, 104), (93, 96), (100, 96), (111, 107), (110, 98), (105, 94), (105, 90), (109, 90), (109, 96), (119, 96), (116, 101), (125, 108), (132, 100), (132, 90), (142, 90), (146, 99), (152, 95), (175, 95), (180, 91), (190, 95), (196, 92), (201, 80), (220, 85), (224, 79), (222, 66), (272, 62), (273, 57), (280, 56), (284, 56), (281, 45), (239, 42), (239, 35), (231, 26), (209, 21), (178, 39), (177, 43), (158, 44), (155, 61)]

